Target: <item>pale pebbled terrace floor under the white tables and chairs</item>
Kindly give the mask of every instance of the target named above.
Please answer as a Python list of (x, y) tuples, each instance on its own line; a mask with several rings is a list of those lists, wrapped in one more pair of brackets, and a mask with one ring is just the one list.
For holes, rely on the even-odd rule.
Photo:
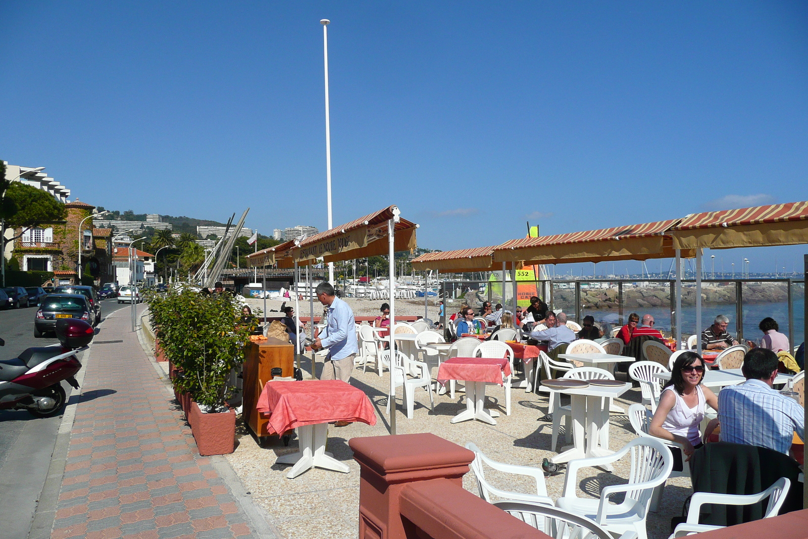
[[(368, 309), (372, 308), (371, 302), (364, 301), (364, 303)], [(406, 301), (401, 303), (406, 304)], [(360, 304), (355, 313), (364, 306)], [(410, 305), (410, 307), (414, 314), (417, 314), (417, 306)], [(306, 378), (309, 377), (310, 366), (310, 359), (302, 360), (302, 367), (307, 371), (304, 375)], [(318, 371), (322, 367), (320, 358), (317, 367)], [(235, 453), (227, 456), (230, 465), (241, 478), (246, 490), (250, 491), (255, 503), (269, 512), (272, 524), (288, 539), (357, 537), (359, 465), (351, 457), (347, 440), (356, 436), (388, 434), (388, 415), (385, 414), (385, 406), (389, 378), (386, 372), (383, 377), (379, 377), (370, 370), (363, 373), (362, 368), (356, 368), (351, 384), (368, 394), (377, 411), (377, 423), (373, 427), (364, 423), (352, 423), (347, 427), (329, 428), (328, 451), (334, 453), (339, 461), (345, 462), (351, 469), (350, 473), (340, 474), (314, 468), (295, 479), (287, 479), (285, 474), (288, 465), (276, 464), (276, 457), (297, 451), (297, 440), (292, 440), (287, 448), (280, 440), (272, 437), (266, 448), (260, 448), (243, 426), (238, 430), (238, 448)], [(405, 413), (401, 411), (399, 398), (398, 433), (433, 432), (461, 445), (473, 441), (495, 461), (541, 466), (542, 459), (556, 454), (549, 447), (552, 423), (537, 421), (537, 418), (545, 415), (547, 398), (545, 394), (525, 393), (524, 389), (516, 385), (518, 383), (515, 381), (515, 387), (511, 390), (510, 416), (505, 415), (503, 406), (499, 406), (503, 403), (503, 390), (491, 387), (486, 391), (490, 406), (499, 406), (501, 415), (496, 425), (479, 421), (449, 423), (453, 415), (465, 409), (464, 393), (462, 391), (457, 393), (454, 399), (448, 394), (436, 395), (434, 410), (430, 410), (427, 393), (418, 390), (415, 394), (414, 419), (406, 419)], [(638, 389), (629, 390), (623, 398), (616, 399), (615, 403), (627, 409), (633, 402), (639, 402), (640, 398)], [(611, 448), (620, 448), (634, 437), (628, 418), (613, 413), (610, 423)], [(564, 435), (561, 434), (559, 441), (563, 439)], [(597, 497), (603, 486), (624, 482), (628, 477), (629, 465), (629, 457), (625, 457), (615, 464), (613, 474), (595, 468), (582, 470), (578, 477), (579, 495)], [(494, 485), (505, 490), (529, 492), (535, 488), (535, 483), (530, 484), (532, 479), (528, 480), (521, 476), (505, 477), (493, 470), (487, 470), (486, 477)], [(547, 491), (551, 498), (557, 499), (562, 494), (563, 482), (564, 474), (546, 479)], [(472, 472), (465, 475), (463, 484), (467, 490), (476, 493), (477, 486)], [(651, 513), (648, 517), (647, 531), (650, 539), (663, 539), (670, 535), (671, 517), (681, 514), (684, 499), (690, 493), (689, 478), (668, 479), (659, 512)]]

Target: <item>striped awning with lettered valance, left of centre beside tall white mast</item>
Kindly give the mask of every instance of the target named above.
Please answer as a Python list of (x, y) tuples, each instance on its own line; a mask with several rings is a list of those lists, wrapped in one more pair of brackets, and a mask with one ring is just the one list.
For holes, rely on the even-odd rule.
[[(314, 234), (292, 246), (288, 256), (281, 259), (276, 255), (276, 263), (278, 267), (294, 267), (297, 261), (301, 266), (308, 266), (318, 263), (321, 258), (325, 262), (340, 262), (386, 255), (389, 252), (387, 223), (398, 213), (398, 206), (388, 206), (344, 225)], [(395, 251), (415, 249), (417, 228), (415, 223), (399, 217), (399, 222), (395, 224)]]

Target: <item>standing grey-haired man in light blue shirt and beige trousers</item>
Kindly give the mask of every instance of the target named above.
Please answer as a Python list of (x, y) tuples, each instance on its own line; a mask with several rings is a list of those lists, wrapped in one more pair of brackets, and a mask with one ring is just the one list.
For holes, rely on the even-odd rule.
[(328, 307), (327, 323), (322, 333), (314, 339), (314, 349), (328, 348), (326, 364), (322, 366), (320, 380), (351, 381), (354, 356), (359, 352), (356, 346), (356, 322), (353, 311), (345, 301), (336, 297), (334, 287), (320, 283), (314, 289), (317, 299)]

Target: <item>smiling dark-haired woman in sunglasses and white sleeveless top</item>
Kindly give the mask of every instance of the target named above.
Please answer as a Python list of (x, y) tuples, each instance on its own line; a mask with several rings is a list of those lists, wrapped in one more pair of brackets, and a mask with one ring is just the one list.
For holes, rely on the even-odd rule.
[[(659, 396), (659, 406), (651, 419), (649, 433), (663, 440), (678, 442), (684, 446), (684, 460), (700, 448), (699, 424), (705, 416), (705, 405), (718, 411), (718, 397), (708, 387), (702, 387), (705, 364), (696, 352), (684, 352), (676, 358), (671, 370), (671, 380)], [(682, 471), (682, 452), (671, 448), (673, 470)]]

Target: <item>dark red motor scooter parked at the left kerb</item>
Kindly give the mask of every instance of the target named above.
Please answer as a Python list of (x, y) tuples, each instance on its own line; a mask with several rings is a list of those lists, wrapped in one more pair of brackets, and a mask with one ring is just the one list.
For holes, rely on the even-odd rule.
[[(36, 417), (61, 414), (65, 380), (78, 390), (75, 374), (82, 368), (77, 354), (88, 348), (95, 331), (78, 318), (56, 322), (60, 344), (32, 347), (12, 360), (0, 360), (0, 410), (26, 410)], [(5, 346), (0, 339), (0, 346)]]

